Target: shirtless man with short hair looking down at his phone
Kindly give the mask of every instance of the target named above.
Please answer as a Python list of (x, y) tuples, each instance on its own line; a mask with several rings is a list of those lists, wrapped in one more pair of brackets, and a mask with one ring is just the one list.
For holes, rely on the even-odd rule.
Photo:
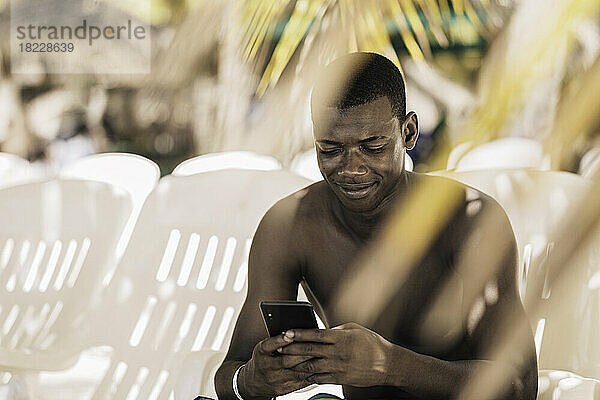
[[(350, 74), (343, 87), (335, 88), (331, 82), (342, 70)], [(339, 93), (335, 98), (328, 97), (332, 88)], [(536, 357), (516, 290), (517, 250), (510, 223), (494, 200), (476, 192), (477, 215), (485, 211), (499, 221), (494, 238), (485, 240), (504, 240), (509, 245), (504, 246), (508, 249), (492, 280), (491, 301), (475, 324), (469, 323), (461, 307), (469, 307), (463, 303), (474, 296), (465, 295), (470, 277), (457, 275), (457, 258), (464, 255), (462, 246), (477, 225), (467, 195), (475, 191), (404, 169), (405, 149), (415, 145), (418, 122), (414, 112), (405, 114), (399, 70), (376, 54), (344, 56), (325, 68), (313, 89), (311, 110), (325, 180), (279, 201), (258, 227), (250, 251), (248, 295), (215, 377), (219, 399), (269, 399), (313, 383), (342, 385), (346, 399), (454, 398), (473, 371), (497, 367), (489, 354), (506, 333), (501, 321), (508, 314), (516, 315), (513, 321), (524, 328), (527, 345), (509, 353), (510, 384), (500, 396), (535, 399)], [(374, 322), (352, 323), (337, 308), (338, 285), (352, 268), (360, 267), (354, 265), (357, 255), (373, 244), (394, 206), (401, 206), (417, 185), (433, 180), (440, 187), (451, 185), (464, 192), (464, 204)], [(414, 223), (419, 223), (418, 215)], [(405, 227), (407, 234), (411, 226)], [(433, 335), (451, 339), (432, 341), (432, 335), (422, 335), (424, 314), (445, 283), (456, 276), (463, 288), (457, 292), (458, 324)], [(326, 326), (334, 328), (293, 330), (265, 339), (259, 303), (295, 300), (299, 284)]]

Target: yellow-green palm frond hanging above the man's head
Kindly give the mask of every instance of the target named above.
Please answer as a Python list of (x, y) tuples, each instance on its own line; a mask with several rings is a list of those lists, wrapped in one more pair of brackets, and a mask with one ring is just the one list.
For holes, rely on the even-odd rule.
[[(269, 32), (282, 24), (284, 11), (289, 6), (293, 6), (291, 15), (277, 40)], [(340, 30), (346, 35), (344, 52), (379, 52), (399, 65), (391, 35), (399, 34), (414, 59), (428, 59), (432, 44), (447, 47), (453, 41), (465, 42), (476, 35), (487, 36), (490, 23), (480, 15), (490, 12), (490, 8), (490, 0), (247, 0), (241, 6), (244, 34), (240, 47), (244, 59), (253, 61), (267, 40), (276, 41), (256, 90), (260, 96), (278, 82), (309, 31), (318, 34), (328, 14), (339, 14), (340, 18), (335, 20), (340, 21)], [(472, 32), (465, 34), (465, 29)], [(312, 42), (305, 41), (305, 45)]]

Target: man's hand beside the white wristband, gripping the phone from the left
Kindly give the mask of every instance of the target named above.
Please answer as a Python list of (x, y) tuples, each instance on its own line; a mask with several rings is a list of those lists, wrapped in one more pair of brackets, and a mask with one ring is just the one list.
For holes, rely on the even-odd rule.
[(254, 346), (252, 358), (240, 371), (238, 387), (244, 398), (275, 397), (309, 386), (307, 372), (294, 370), (310, 355), (283, 355), (276, 350), (292, 343), (290, 335), (267, 338)]

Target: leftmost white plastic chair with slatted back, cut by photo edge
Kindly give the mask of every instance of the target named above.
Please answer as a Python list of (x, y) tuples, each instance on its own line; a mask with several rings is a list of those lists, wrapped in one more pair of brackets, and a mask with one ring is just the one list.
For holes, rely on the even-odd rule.
[(75, 362), (130, 211), (126, 192), (98, 182), (0, 190), (0, 370)]

